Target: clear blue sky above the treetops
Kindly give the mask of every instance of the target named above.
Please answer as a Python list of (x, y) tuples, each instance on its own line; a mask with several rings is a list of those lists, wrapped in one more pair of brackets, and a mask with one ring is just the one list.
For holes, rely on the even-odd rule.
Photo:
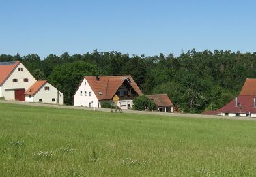
[(256, 1), (0, 0), (0, 54), (256, 51)]

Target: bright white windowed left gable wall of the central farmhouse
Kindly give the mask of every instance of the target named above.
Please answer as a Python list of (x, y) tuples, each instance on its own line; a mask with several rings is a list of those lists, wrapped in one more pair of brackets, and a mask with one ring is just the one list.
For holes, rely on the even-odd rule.
[[(86, 82), (86, 84), (85, 84)], [(80, 92), (82, 91), (82, 96), (80, 95)], [(87, 95), (85, 96), (85, 91), (87, 92)], [(89, 96), (89, 92), (91, 92), (91, 96)], [(98, 93), (96, 93), (98, 94)], [(81, 85), (79, 86), (79, 89), (77, 89), (75, 95), (74, 95), (74, 106), (87, 106), (89, 107), (89, 103), (91, 103), (91, 107), (100, 108), (100, 103), (94, 93), (92, 91), (91, 86), (87, 82), (85, 78), (83, 78), (83, 82), (81, 82)]]

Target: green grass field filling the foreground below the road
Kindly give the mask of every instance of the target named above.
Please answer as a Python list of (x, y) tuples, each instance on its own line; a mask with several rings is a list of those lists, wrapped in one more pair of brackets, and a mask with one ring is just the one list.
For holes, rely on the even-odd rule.
[(256, 176), (256, 122), (0, 103), (0, 176)]

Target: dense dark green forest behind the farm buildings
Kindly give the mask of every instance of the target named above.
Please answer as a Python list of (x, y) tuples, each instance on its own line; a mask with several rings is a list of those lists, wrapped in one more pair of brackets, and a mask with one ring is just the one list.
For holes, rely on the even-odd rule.
[(128, 75), (144, 94), (167, 93), (184, 112), (216, 110), (238, 95), (246, 78), (256, 77), (256, 52), (195, 49), (182, 53), (144, 55), (98, 52), (40, 59), (37, 54), (20, 57), (1, 54), (0, 61), (21, 61), (38, 80), (48, 80), (72, 104), (72, 96), (83, 76)]

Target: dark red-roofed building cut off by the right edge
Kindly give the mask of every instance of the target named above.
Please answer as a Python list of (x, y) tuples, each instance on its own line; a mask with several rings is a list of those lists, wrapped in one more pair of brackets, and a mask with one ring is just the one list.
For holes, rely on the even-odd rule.
[(206, 111), (203, 114), (256, 117), (256, 79), (246, 79), (238, 97), (216, 111)]

